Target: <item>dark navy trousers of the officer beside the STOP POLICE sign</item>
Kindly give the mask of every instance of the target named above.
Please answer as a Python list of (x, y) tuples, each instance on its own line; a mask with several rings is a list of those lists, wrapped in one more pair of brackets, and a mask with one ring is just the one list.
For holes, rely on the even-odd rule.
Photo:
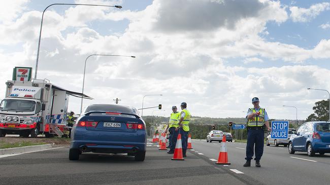
[(255, 152), (254, 160), (259, 161), (263, 153), (263, 129), (248, 129), (248, 138), (246, 143), (246, 160), (251, 160), (253, 157), (253, 149)]

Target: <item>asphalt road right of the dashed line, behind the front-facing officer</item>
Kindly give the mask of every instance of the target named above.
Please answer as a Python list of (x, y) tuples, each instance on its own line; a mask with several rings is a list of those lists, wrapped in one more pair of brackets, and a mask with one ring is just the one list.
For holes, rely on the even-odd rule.
[[(217, 142), (193, 141), (195, 151), (206, 158), (218, 159), (220, 144)], [(308, 157), (307, 153), (289, 154), (286, 147), (265, 146), (261, 158), (261, 168), (243, 167), (245, 163), (245, 143), (227, 143), (230, 168), (243, 172), (250, 178), (264, 184), (330, 184), (330, 154), (316, 154)], [(210, 160), (211, 161), (211, 160)]]

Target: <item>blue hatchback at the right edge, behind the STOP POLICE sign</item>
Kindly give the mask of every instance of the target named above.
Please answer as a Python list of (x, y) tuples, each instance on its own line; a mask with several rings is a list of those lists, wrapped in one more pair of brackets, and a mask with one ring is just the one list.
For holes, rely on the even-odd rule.
[(308, 156), (330, 153), (330, 122), (304, 123), (291, 135), (288, 145), (290, 154), (295, 151), (307, 152)]

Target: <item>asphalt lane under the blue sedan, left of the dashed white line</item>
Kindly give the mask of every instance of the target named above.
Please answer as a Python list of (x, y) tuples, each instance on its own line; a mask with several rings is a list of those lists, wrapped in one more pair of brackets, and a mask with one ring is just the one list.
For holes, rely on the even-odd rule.
[(69, 148), (58, 148), (0, 158), (0, 184), (261, 184), (194, 151), (184, 161), (172, 161), (173, 155), (152, 144), (144, 162), (93, 153), (70, 161), (68, 155)]

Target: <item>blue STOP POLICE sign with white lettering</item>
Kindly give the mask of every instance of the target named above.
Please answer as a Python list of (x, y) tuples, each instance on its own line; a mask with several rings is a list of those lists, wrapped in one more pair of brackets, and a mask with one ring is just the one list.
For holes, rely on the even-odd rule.
[(272, 132), (271, 138), (282, 138), (286, 139), (289, 132), (288, 121), (272, 121)]

